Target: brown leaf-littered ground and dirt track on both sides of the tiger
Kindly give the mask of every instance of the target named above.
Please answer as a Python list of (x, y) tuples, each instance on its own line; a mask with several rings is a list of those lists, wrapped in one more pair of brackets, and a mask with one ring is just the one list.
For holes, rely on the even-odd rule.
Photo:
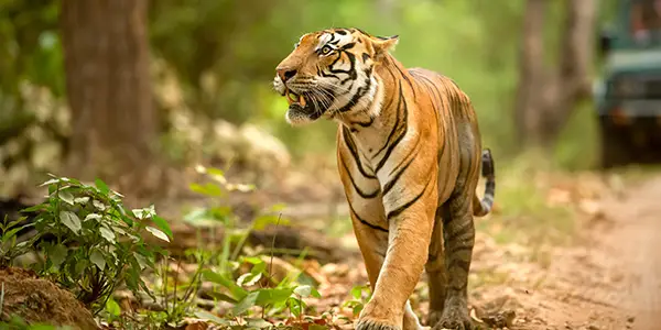
[[(531, 172), (534, 166), (527, 166), (501, 172), (492, 212), (475, 220), (468, 287), (475, 322), (485, 329), (661, 329), (661, 172), (570, 174)], [(367, 274), (335, 173), (310, 177), (290, 177), (283, 185), (288, 189), (239, 194), (229, 204), (237, 215), (254, 218), (256, 206), (286, 202), (282, 216), (290, 224), (251, 233), (245, 253), (268, 255), (260, 250), (264, 248), (290, 251), (270, 255), (270, 276), (301, 272), (321, 294), (304, 299), (305, 315), (330, 315), (326, 324), (353, 329), (356, 315), (346, 302), (365, 302), (365, 296), (356, 299), (354, 293), (367, 284)], [(223, 235), (218, 227), (201, 232), (196, 224), (176, 220), (192, 206), (209, 202), (192, 199), (187, 205), (185, 199), (170, 204), (171, 210), (167, 204), (160, 208), (174, 220), (174, 240), (164, 248), (174, 257), (172, 276), (181, 283), (196, 272), (196, 264), (185, 264), (183, 251), (198, 248), (201, 233), (207, 242), (204, 249), (216, 251), (218, 242), (212, 241)], [(301, 250), (308, 248), (302, 258)], [(429, 312), (425, 282), (423, 275), (411, 297), (423, 323)], [(218, 317), (227, 315), (232, 305), (209, 299), (208, 284), (202, 284), (196, 305)], [(117, 292), (115, 299), (122, 310), (132, 309), (134, 298), (126, 292)], [(257, 306), (251, 311), (263, 317)], [(206, 324), (204, 319), (186, 318), (187, 324), (199, 321)]]

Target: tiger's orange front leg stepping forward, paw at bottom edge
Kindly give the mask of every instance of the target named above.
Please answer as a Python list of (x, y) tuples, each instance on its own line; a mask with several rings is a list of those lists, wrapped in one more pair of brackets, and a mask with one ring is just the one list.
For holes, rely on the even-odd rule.
[[(407, 301), (427, 260), (437, 198), (435, 172), (414, 175), (399, 177), (397, 189), (384, 185), (388, 252), (372, 298), (358, 319), (358, 330), (402, 329), (404, 312), (410, 312)], [(388, 183), (387, 178), (380, 182)]]

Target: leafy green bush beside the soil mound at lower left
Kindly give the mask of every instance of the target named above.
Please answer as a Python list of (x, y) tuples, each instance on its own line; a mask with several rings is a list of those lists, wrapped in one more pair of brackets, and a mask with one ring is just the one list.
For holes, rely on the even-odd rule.
[(54, 237), (35, 248), (45, 256), (36, 265), (40, 275), (72, 290), (95, 314), (122, 284), (136, 294), (143, 290), (153, 297), (140, 275), (145, 268), (153, 271), (156, 256), (165, 252), (148, 245), (141, 234), (147, 231), (164, 241), (172, 238), (154, 207), (126, 209), (122, 196), (100, 179), (91, 186), (53, 177), (42, 186), (48, 188), (47, 199), (24, 210), (39, 212), (33, 221), (37, 233), (30, 242)]

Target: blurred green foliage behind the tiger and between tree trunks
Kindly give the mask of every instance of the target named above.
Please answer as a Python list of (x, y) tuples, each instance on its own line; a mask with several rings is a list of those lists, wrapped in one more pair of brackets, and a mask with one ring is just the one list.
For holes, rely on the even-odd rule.
[[(615, 2), (602, 1), (604, 19)], [(546, 22), (549, 65), (557, 53), (562, 3), (553, 1)], [(58, 8), (58, 0), (0, 0), (0, 123), (19, 120), (30, 107), (21, 96), (25, 81), (64, 98)], [(188, 108), (259, 123), (294, 155), (324, 148), (333, 154), (335, 139), (330, 122), (290, 128), (283, 119), (286, 103), (271, 90), (274, 67), (300, 35), (330, 26), (399, 34), (393, 54), (407, 66), (455, 79), (474, 101), (484, 144), (507, 160), (518, 152), (512, 108), (524, 0), (153, 0), (149, 28), (152, 56), (175, 73)], [(586, 103), (575, 113), (554, 164), (590, 164), (597, 147), (592, 111)]]

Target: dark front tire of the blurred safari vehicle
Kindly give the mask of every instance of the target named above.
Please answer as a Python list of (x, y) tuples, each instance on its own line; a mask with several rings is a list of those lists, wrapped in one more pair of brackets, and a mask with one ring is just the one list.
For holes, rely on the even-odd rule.
[(614, 128), (607, 119), (600, 121), (602, 168), (608, 169), (633, 162), (631, 146), (626, 132)]

